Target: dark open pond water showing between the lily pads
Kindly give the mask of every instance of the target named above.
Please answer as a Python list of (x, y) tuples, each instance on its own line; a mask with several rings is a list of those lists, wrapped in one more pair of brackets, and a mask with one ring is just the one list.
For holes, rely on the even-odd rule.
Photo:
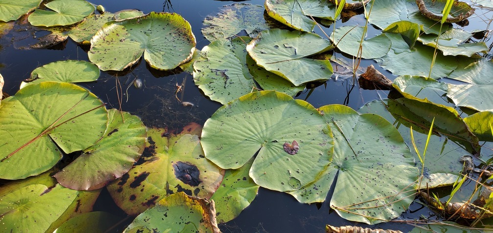
[[(104, 5), (109, 12), (116, 12), (122, 9), (139, 9), (144, 13), (151, 11), (170, 11), (182, 15), (192, 26), (193, 33), (197, 38), (197, 48), (202, 49), (209, 44), (201, 33), (202, 21), (209, 14), (215, 14), (218, 7), (234, 3), (234, 1), (217, 0), (92, 0), (95, 4)], [(247, 0), (252, 4), (263, 5), (263, 0)], [(364, 24), (363, 17), (356, 16), (350, 21), (337, 26)], [(331, 32), (329, 28), (325, 30)], [(376, 33), (370, 32), (371, 33)], [(323, 36), (323, 35), (322, 35)], [(59, 60), (86, 60), (87, 53), (77, 46), (74, 42), (67, 43), (63, 50), (19, 50), (15, 43), (1, 41), (0, 50), (0, 72), (5, 78), (4, 92), (10, 95), (15, 94), (22, 80), (29, 77), (31, 71), (36, 67)], [(337, 55), (343, 57), (343, 55)], [(348, 60), (351, 61), (351, 60)], [(361, 67), (376, 65), (373, 61), (363, 61)], [(389, 78), (393, 76), (378, 67), (380, 71)], [(146, 67), (142, 62), (131, 73), (120, 74), (119, 80), (122, 82), (123, 102), (122, 110), (132, 112), (141, 116), (146, 126), (172, 127), (179, 128), (189, 122), (197, 122), (201, 125), (214, 113), (221, 105), (209, 100), (194, 85), (192, 76), (185, 72), (161, 72)], [(132, 81), (139, 78), (143, 81), (143, 88), (136, 89)], [(176, 84), (183, 84), (183, 93), (180, 97), (182, 101), (190, 101), (195, 107), (183, 107), (175, 99)], [(100, 79), (95, 83), (82, 84), (100, 97), (109, 107), (118, 108), (118, 98), (116, 94), (116, 83), (114, 76), (102, 72)], [(326, 104), (339, 103), (347, 104), (353, 109), (358, 109), (366, 102), (386, 98), (385, 91), (368, 91), (359, 89), (357, 86), (351, 89), (350, 81), (329, 80), (327, 85), (319, 86), (308, 96), (308, 91), (303, 92), (298, 99), (306, 99), (315, 107)], [(331, 193), (329, 193), (331, 196)], [(419, 218), (420, 215), (429, 217), (432, 211), (418, 203), (413, 203), (401, 220), (412, 220)], [(118, 207), (114, 205), (106, 191), (98, 200), (95, 210), (104, 210), (116, 213), (124, 217)], [(132, 221), (132, 219), (128, 219)], [(335, 212), (331, 211), (329, 203), (321, 205), (300, 204), (287, 194), (272, 192), (260, 189), (257, 197), (251, 205), (242, 212), (235, 220), (221, 225), (220, 229), (224, 233), (241, 232), (324, 232), (325, 225), (333, 226), (354, 225), (355, 223), (341, 219)], [(358, 224), (356, 224), (358, 225)], [(367, 227), (365, 225), (360, 225)], [(406, 224), (387, 223), (372, 226), (373, 228), (394, 229), (408, 231), (413, 227)]]

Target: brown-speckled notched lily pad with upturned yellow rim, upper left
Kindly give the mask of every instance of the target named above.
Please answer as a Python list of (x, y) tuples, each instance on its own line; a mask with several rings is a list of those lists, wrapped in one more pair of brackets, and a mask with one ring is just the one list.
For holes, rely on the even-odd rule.
[(190, 24), (176, 13), (107, 23), (91, 39), (89, 60), (101, 70), (123, 70), (144, 55), (150, 67), (169, 70), (187, 62), (196, 40)]

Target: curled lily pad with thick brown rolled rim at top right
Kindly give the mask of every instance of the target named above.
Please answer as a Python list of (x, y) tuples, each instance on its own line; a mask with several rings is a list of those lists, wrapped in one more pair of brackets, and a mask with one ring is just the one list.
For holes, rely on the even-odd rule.
[[(418, 4), (420, 12), (428, 19), (441, 22), (447, 0), (416, 0), (416, 4)], [(469, 4), (455, 0), (445, 22), (457, 23), (467, 19), (472, 14), (474, 14), (474, 9)]]

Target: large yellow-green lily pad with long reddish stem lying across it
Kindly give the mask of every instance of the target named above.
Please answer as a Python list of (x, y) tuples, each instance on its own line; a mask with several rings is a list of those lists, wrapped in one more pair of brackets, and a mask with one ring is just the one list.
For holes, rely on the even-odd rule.
[[(62, 104), (63, 103), (63, 104)], [(101, 138), (106, 108), (74, 84), (29, 85), (2, 101), (0, 178), (22, 179), (50, 169), (65, 153), (83, 150)]]

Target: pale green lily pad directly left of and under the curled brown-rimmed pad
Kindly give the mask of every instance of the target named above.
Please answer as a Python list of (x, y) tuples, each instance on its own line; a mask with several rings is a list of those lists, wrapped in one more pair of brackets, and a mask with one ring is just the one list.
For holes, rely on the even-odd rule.
[[(380, 29), (386, 29), (389, 25), (395, 22), (406, 20), (419, 24), (421, 31), (426, 34), (440, 33), (440, 24), (424, 17), (416, 4), (416, 0), (375, 1), (368, 20), (371, 24), (379, 27)], [(444, 24), (442, 27), (442, 32), (447, 31), (450, 27), (450, 24)]]

